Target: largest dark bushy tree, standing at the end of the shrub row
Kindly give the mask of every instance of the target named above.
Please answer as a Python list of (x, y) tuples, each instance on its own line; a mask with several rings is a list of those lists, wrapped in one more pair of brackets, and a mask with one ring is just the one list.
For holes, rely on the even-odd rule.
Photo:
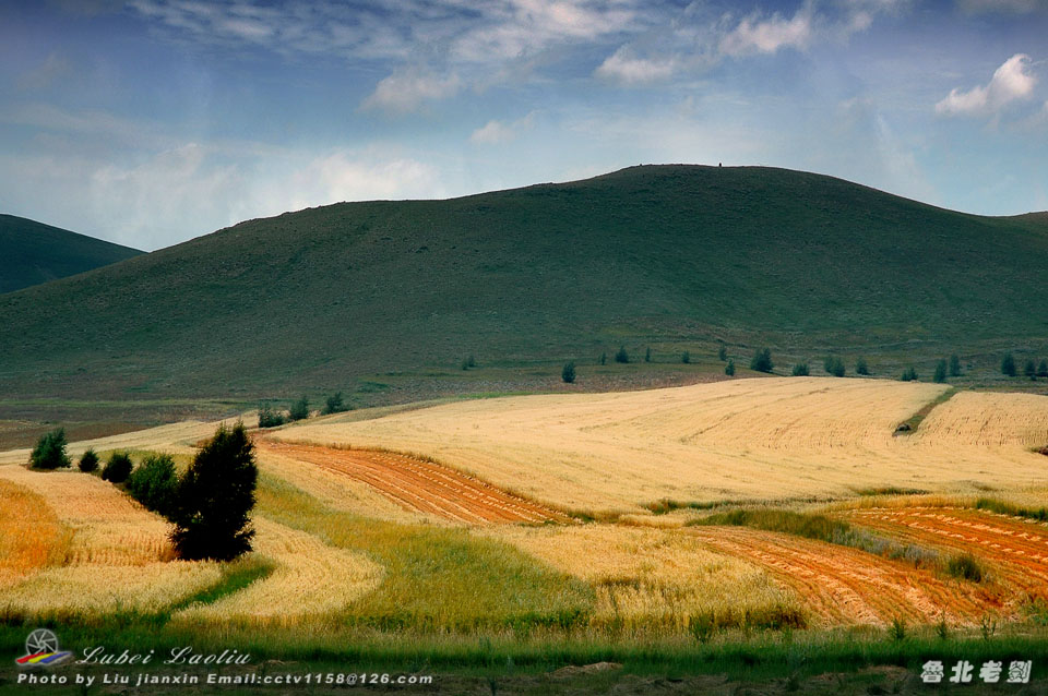
[(248, 517), (258, 481), (251, 440), (237, 423), (219, 425), (178, 484), (171, 543), (187, 561), (231, 561), (251, 550)]

